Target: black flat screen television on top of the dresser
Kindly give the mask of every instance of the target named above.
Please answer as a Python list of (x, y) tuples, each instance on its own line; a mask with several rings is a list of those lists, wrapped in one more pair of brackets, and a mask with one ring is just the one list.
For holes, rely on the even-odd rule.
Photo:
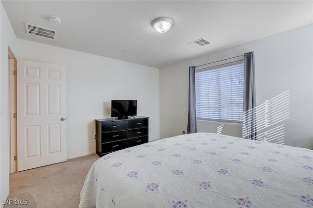
[(112, 100), (111, 117), (126, 119), (128, 116), (137, 116), (137, 100)]

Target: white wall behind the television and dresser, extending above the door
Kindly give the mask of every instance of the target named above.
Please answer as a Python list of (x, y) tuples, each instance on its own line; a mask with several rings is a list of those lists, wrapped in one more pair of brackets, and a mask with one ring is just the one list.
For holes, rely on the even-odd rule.
[(159, 69), (18, 39), (18, 59), (67, 67), (67, 158), (95, 153), (95, 121), (111, 117), (112, 99), (138, 101), (159, 139)]

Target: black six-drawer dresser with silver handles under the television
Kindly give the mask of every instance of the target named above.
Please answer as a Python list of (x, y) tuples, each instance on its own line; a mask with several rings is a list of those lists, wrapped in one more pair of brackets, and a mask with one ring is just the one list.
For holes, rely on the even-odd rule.
[(116, 150), (148, 142), (149, 117), (96, 119), (96, 153), (100, 157)]

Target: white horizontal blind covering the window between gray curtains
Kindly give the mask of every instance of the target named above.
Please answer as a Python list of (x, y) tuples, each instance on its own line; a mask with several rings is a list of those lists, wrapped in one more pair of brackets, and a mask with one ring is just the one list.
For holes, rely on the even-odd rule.
[(242, 122), (244, 62), (195, 71), (197, 119)]

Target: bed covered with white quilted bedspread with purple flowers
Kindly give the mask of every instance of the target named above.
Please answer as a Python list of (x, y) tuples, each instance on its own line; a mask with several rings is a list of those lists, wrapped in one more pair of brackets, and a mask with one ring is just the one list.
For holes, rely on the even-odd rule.
[(195, 133), (91, 166), (80, 208), (313, 208), (313, 150)]

